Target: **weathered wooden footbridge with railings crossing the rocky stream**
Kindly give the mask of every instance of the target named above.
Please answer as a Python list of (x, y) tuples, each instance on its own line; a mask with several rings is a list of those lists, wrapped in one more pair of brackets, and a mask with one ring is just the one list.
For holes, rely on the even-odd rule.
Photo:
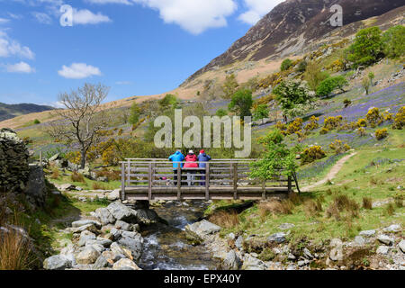
[(293, 192), (291, 177), (249, 178), (252, 161), (218, 159), (196, 162), (201, 168), (174, 168), (166, 159), (126, 159), (121, 162), (121, 200), (255, 200)]

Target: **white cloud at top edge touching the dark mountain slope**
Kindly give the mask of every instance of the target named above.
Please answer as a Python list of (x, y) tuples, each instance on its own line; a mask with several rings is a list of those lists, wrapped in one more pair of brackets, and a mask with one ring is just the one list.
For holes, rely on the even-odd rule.
[(244, 23), (254, 25), (264, 15), (268, 14), (277, 4), (284, 0), (244, 0), (247, 12), (240, 14), (238, 19)]

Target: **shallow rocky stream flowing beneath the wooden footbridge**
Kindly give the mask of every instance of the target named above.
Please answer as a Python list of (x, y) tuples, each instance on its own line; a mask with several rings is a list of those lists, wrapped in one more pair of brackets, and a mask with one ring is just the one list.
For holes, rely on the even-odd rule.
[(168, 225), (157, 224), (142, 232), (144, 252), (139, 267), (145, 270), (214, 270), (219, 262), (203, 245), (190, 245), (185, 238), (187, 224), (199, 220), (206, 202), (166, 202), (153, 208)]

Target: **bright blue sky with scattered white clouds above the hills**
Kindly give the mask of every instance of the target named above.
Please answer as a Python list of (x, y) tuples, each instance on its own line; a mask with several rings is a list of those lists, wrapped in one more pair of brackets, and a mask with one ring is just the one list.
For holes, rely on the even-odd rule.
[(108, 101), (165, 93), (280, 2), (0, 0), (0, 102), (57, 105), (85, 82), (110, 86)]

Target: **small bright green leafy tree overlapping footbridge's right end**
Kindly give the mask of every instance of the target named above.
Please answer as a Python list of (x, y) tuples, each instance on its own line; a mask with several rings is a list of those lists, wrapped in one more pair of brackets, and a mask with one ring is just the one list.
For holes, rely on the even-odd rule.
[(259, 142), (266, 147), (264, 157), (250, 164), (252, 167), (249, 173), (250, 177), (260, 179), (262, 181), (272, 180), (275, 175), (280, 173), (285, 176), (292, 176), (297, 185), (298, 191), (300, 188), (297, 180), (296, 163), (296, 148), (288, 148), (283, 143), (284, 136), (280, 130), (273, 130), (266, 138), (261, 139)]

